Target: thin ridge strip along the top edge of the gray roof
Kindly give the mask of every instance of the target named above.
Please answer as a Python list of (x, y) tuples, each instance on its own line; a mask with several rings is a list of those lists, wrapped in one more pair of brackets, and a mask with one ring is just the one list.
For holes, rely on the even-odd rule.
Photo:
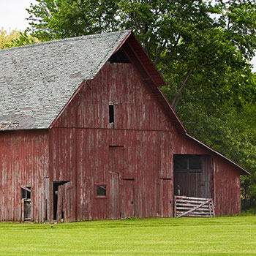
[(90, 39), (90, 38), (94, 38), (94, 37), (104, 37), (104, 36), (108, 36), (110, 34), (118, 34), (118, 33), (121, 34), (121, 33), (126, 33), (128, 31), (131, 31), (131, 30), (126, 29), (126, 30), (118, 30), (118, 31), (111, 31), (111, 32), (103, 32), (103, 33), (100, 33), (100, 34), (86, 34), (86, 35), (80, 36), (80, 37), (69, 37), (69, 38), (63, 38), (63, 39), (53, 39), (53, 40), (45, 41), (45, 42), (36, 42), (34, 44), (31, 44), (31, 45), (20, 45), (20, 46), (16, 46), (16, 47), (12, 47), (12, 48), (0, 49), (0, 53), (10, 51), (10, 50), (17, 50), (17, 49), (21, 49), (21, 48), (33, 48), (33, 47), (37, 47), (39, 45), (50, 45), (50, 44), (54, 44), (54, 43), (57, 43), (57, 42), (78, 41), (78, 40)]

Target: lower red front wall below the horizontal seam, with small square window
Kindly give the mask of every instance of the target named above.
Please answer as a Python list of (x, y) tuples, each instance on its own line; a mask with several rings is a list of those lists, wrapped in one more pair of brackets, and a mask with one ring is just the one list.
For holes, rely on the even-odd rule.
[[(77, 140), (70, 149), (64, 143), (74, 131)], [(68, 204), (74, 208), (69, 220), (124, 217), (129, 211), (125, 196), (131, 186), (136, 217), (171, 217), (173, 188), (163, 178), (172, 178), (172, 164), (159, 157), (171, 155), (166, 143), (170, 137), (169, 132), (54, 128), (52, 143), (61, 150), (54, 153), (59, 160), (53, 164), (52, 180), (70, 181), (74, 196)], [(75, 157), (65, 157), (75, 151)], [(107, 186), (107, 197), (97, 197), (97, 184)], [(166, 199), (160, 202), (162, 197)]]

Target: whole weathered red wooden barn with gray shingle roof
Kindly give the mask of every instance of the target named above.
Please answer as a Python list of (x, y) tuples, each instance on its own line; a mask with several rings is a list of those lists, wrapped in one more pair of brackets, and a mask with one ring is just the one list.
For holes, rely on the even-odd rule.
[(130, 31), (0, 51), (0, 221), (239, 214), (230, 159), (187, 135)]

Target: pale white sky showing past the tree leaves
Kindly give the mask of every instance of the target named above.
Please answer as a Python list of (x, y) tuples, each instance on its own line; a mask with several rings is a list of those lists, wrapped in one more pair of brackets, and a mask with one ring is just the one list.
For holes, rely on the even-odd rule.
[[(36, 3), (36, 0), (0, 0), (0, 29), (7, 32), (16, 30), (25, 30), (29, 26), (29, 13), (26, 8), (30, 4)], [(253, 71), (256, 72), (256, 57), (252, 60)]]

